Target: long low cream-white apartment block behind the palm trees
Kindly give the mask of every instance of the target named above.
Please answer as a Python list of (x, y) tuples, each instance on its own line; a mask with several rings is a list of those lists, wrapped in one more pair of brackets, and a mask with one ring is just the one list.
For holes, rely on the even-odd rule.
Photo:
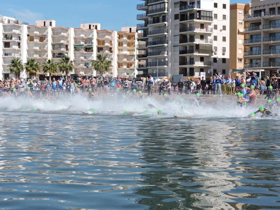
[[(106, 73), (116, 77), (137, 75), (136, 27), (123, 27), (121, 32), (101, 30), (100, 23), (83, 23), (80, 28), (56, 27), (55, 20), (37, 20), (35, 25), (25, 25), (13, 18), (0, 16), (0, 79), (14, 77), (8, 64), (14, 58), (24, 63), (34, 58), (40, 65), (48, 59), (59, 62), (64, 56), (74, 61), (72, 73), (99, 74), (91, 63), (98, 54), (107, 54), (112, 61)], [(122, 42), (122, 46), (119, 46)], [(122, 61), (122, 62), (120, 62)], [(59, 75), (60, 73), (58, 73)], [(20, 75), (28, 77), (25, 71)], [(48, 76), (42, 69), (38, 76)]]

